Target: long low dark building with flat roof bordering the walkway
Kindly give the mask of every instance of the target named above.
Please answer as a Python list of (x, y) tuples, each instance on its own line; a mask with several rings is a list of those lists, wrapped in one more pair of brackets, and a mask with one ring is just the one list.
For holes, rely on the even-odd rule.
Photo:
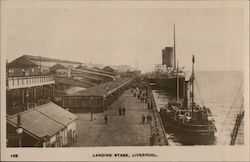
[(72, 112), (103, 112), (132, 82), (131, 78), (117, 78), (111, 82), (65, 95), (62, 107)]

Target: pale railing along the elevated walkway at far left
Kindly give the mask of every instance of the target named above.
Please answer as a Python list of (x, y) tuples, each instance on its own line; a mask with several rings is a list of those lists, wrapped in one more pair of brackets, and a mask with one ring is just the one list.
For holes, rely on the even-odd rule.
[(7, 77), (6, 87), (8, 90), (17, 88), (26, 88), (55, 83), (51, 75), (35, 75), (22, 77)]

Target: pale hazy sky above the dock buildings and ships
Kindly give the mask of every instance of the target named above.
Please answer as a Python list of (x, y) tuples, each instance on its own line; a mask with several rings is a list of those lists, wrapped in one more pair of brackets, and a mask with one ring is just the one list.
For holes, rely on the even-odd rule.
[(162, 49), (173, 46), (175, 24), (180, 66), (190, 70), (195, 54), (197, 70), (243, 70), (246, 11), (241, 5), (197, 3), (6, 4), (6, 57), (8, 62), (27, 54), (132, 67), (138, 62), (142, 71), (151, 71), (161, 64)]

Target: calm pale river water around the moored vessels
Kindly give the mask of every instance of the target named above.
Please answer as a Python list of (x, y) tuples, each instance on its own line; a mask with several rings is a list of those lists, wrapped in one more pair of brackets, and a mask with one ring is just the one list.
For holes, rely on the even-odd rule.
[[(203, 102), (211, 109), (217, 127), (215, 138), (196, 138), (166, 130), (169, 142), (173, 145), (229, 145), (236, 115), (242, 107), (243, 77), (243, 72), (197, 72), (200, 95), (196, 86), (195, 102), (200, 105)], [(153, 94), (158, 110), (171, 98), (164, 90), (153, 90)]]

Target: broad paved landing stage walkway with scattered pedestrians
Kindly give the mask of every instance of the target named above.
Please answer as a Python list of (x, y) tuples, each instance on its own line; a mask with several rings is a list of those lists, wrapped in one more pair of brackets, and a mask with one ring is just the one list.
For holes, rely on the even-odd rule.
[[(119, 116), (119, 106), (126, 109), (125, 116)], [(132, 96), (130, 89), (125, 91), (105, 113), (94, 114), (90, 121), (90, 113), (77, 113), (77, 141), (73, 146), (149, 146), (151, 136), (150, 124), (142, 123), (142, 115), (152, 113), (147, 103)], [(104, 123), (104, 114), (108, 123)]]

